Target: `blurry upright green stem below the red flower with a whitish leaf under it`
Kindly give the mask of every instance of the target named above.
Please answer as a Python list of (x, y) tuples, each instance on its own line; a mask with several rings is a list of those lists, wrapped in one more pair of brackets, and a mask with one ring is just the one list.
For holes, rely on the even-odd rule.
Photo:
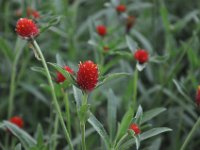
[(138, 70), (135, 69), (133, 74), (133, 109), (136, 108), (136, 99), (137, 99), (137, 82), (138, 82)]

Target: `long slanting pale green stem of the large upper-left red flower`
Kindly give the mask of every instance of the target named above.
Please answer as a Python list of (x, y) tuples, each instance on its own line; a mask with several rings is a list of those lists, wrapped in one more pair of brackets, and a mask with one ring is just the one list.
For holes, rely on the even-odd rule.
[(61, 126), (62, 126), (62, 128), (64, 130), (65, 138), (66, 138), (67, 142), (69, 143), (70, 149), (73, 150), (74, 148), (72, 146), (72, 142), (71, 142), (71, 139), (70, 139), (70, 136), (69, 136), (69, 132), (68, 132), (66, 126), (65, 126), (65, 122), (64, 122), (64, 119), (62, 117), (62, 112), (60, 110), (60, 106), (59, 106), (58, 100), (56, 98), (54, 85), (53, 85), (53, 82), (52, 82), (52, 79), (51, 79), (51, 75), (49, 73), (49, 69), (47, 67), (46, 60), (45, 60), (45, 58), (44, 58), (44, 56), (42, 54), (42, 51), (41, 51), (39, 45), (37, 44), (37, 42), (35, 40), (32, 40), (32, 44), (33, 44), (35, 50), (37, 51), (37, 53), (38, 53), (38, 55), (39, 55), (39, 57), (40, 57), (40, 59), (42, 61), (43, 67), (44, 67), (44, 69), (46, 71), (46, 75), (47, 75), (47, 79), (48, 79), (48, 82), (49, 82), (49, 85), (50, 85), (50, 88), (51, 88), (51, 94), (52, 94), (52, 97), (53, 97), (53, 103), (55, 105), (56, 113), (57, 113), (57, 115), (59, 117)]

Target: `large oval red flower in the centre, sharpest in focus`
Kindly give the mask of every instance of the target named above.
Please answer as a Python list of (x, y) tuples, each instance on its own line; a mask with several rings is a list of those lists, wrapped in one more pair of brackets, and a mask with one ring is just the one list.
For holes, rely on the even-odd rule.
[(98, 82), (97, 65), (90, 60), (84, 63), (80, 62), (76, 82), (82, 90), (86, 92), (92, 91)]

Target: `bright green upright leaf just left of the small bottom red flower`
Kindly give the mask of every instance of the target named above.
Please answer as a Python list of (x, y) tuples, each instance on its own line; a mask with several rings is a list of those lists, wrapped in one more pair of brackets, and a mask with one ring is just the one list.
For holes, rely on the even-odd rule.
[(115, 141), (118, 141), (119, 139), (121, 139), (121, 137), (127, 132), (132, 122), (133, 114), (134, 114), (134, 110), (132, 107), (130, 107), (121, 121)]

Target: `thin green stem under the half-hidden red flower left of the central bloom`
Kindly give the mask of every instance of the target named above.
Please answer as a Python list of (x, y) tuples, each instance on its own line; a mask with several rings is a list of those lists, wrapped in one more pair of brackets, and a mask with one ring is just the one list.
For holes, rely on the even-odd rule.
[(65, 93), (64, 90), (63, 90), (63, 94), (64, 94), (65, 109), (66, 109), (65, 111), (66, 111), (67, 129), (69, 131), (69, 136), (71, 137), (71, 118), (70, 118), (69, 98), (68, 98), (68, 94)]

